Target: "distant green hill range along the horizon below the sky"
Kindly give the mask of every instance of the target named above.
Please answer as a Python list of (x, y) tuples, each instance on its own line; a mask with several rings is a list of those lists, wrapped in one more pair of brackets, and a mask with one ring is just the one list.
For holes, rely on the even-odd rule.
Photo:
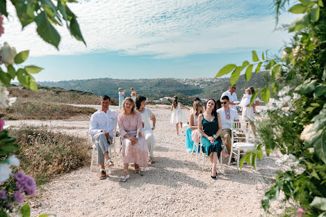
[[(195, 81), (195, 82), (194, 82)], [(236, 93), (242, 95), (245, 88), (254, 86), (261, 88), (266, 79), (263, 72), (252, 74), (249, 82), (241, 75), (238, 79)], [(130, 95), (130, 88), (135, 88), (138, 95), (145, 95), (148, 99), (158, 99), (159, 97), (173, 96), (176, 94), (185, 97), (219, 98), (228, 89), (229, 78), (225, 79), (85, 79), (70, 81), (42, 81), (38, 82), (42, 86), (52, 86), (70, 90), (81, 90), (96, 95), (110, 95), (117, 98), (117, 89), (126, 90), (126, 95)]]

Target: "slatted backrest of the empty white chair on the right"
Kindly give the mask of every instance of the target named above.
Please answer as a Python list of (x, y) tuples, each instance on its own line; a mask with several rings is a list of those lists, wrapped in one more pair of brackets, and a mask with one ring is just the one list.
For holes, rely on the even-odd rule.
[(249, 140), (251, 133), (251, 127), (249, 122), (245, 121), (232, 121), (231, 122), (231, 143), (234, 143), (234, 140), (243, 140), (247, 142)]

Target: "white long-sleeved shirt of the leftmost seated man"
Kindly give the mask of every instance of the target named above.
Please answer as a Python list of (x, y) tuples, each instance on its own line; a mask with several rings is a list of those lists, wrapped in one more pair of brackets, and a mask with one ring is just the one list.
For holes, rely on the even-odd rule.
[(110, 134), (110, 136), (113, 136), (113, 130), (115, 123), (117, 122), (117, 115), (119, 115), (119, 113), (111, 109), (108, 109), (106, 113), (101, 111), (101, 109), (96, 111), (92, 114), (92, 117), (90, 117), (89, 134), (94, 136), (95, 134), (100, 133), (101, 130), (105, 130)]

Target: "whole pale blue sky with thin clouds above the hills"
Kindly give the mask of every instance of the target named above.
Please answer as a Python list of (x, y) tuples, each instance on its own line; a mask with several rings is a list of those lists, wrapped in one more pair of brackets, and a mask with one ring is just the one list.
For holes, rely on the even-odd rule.
[[(272, 0), (81, 0), (70, 3), (83, 42), (63, 27), (59, 50), (42, 41), (31, 24), (22, 31), (13, 6), (1, 43), (30, 50), (26, 65), (44, 70), (36, 81), (71, 79), (215, 77), (229, 63), (252, 59), (251, 51), (279, 54), (288, 42), (275, 31)], [(284, 14), (280, 24), (295, 17)]]

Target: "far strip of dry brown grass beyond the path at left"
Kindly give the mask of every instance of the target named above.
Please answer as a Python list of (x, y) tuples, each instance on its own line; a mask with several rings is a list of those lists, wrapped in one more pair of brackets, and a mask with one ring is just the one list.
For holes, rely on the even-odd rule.
[(4, 109), (7, 120), (63, 120), (76, 116), (90, 116), (96, 109), (65, 104), (22, 102), (17, 99), (13, 106)]

